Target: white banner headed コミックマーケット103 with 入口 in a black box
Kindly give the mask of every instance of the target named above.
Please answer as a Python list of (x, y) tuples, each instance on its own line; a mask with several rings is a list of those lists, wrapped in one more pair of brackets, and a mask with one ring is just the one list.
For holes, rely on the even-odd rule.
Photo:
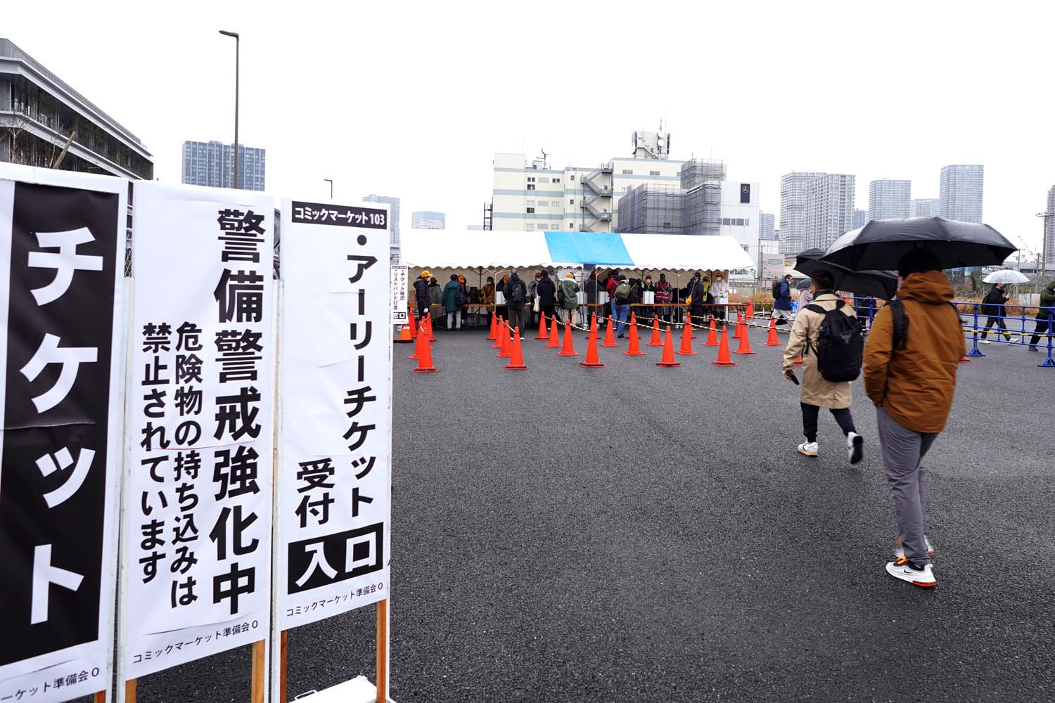
[(279, 629), (388, 594), (387, 218), (372, 204), (283, 203)]

